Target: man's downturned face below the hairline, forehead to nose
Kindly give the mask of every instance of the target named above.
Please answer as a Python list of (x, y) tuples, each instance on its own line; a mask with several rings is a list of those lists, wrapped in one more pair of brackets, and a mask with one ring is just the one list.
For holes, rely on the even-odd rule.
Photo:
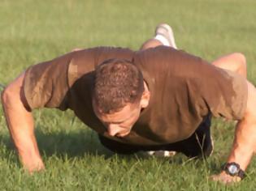
[(102, 113), (93, 105), (94, 112), (110, 136), (123, 138), (128, 135), (140, 117), (141, 104), (126, 104), (119, 112), (111, 114)]

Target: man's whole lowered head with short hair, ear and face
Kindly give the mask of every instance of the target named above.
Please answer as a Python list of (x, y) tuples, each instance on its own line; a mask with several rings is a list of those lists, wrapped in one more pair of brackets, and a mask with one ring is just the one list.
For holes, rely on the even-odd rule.
[(97, 67), (93, 110), (111, 136), (127, 135), (149, 100), (141, 71), (132, 62), (111, 59)]

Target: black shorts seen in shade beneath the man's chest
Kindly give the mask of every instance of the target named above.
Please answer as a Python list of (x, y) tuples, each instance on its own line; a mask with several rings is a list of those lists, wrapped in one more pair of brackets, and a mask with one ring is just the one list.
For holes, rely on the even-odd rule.
[(137, 151), (177, 151), (188, 157), (209, 156), (213, 150), (210, 138), (210, 120), (208, 115), (204, 121), (198, 126), (197, 130), (187, 139), (180, 142), (173, 142), (166, 145), (157, 146), (136, 146), (121, 142), (116, 142), (109, 138), (105, 138), (98, 134), (98, 138), (103, 146), (107, 149), (124, 155), (130, 155)]

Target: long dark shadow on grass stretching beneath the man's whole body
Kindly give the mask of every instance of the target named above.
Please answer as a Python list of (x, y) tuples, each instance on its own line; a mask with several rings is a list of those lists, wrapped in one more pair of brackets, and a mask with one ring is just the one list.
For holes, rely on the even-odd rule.
[[(105, 159), (110, 159), (115, 153), (107, 150), (98, 140), (98, 135), (89, 130), (74, 130), (74, 131), (54, 131), (54, 132), (43, 132), (41, 129), (36, 130), (37, 143), (41, 152), (41, 155), (45, 157), (49, 157), (52, 155), (56, 155), (60, 159), (63, 156), (68, 159), (72, 159), (75, 157), (84, 158), (85, 155), (93, 155), (93, 156), (103, 156)], [(15, 150), (14, 144), (11, 142), (9, 136), (1, 135), (0, 140), (4, 146), (7, 148), (7, 153), (5, 156), (8, 157)], [(119, 159), (149, 159), (152, 158), (149, 155), (145, 155), (145, 153), (138, 152), (134, 155), (119, 155)], [(158, 158), (158, 157), (156, 157)], [(12, 157), (10, 159), (12, 162), (17, 162), (17, 158)], [(189, 158), (184, 157), (184, 155), (179, 154), (177, 156), (171, 158), (159, 158), (158, 162), (168, 162), (170, 164), (184, 164), (187, 163)], [(197, 162), (201, 163), (200, 160), (197, 159)], [(197, 163), (195, 162), (195, 163)]]

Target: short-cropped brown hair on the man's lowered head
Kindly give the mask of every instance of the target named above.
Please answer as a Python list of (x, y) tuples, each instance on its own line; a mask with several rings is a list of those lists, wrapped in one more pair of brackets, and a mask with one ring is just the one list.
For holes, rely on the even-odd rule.
[(132, 62), (110, 59), (96, 68), (93, 101), (103, 113), (117, 112), (141, 100), (144, 81)]

